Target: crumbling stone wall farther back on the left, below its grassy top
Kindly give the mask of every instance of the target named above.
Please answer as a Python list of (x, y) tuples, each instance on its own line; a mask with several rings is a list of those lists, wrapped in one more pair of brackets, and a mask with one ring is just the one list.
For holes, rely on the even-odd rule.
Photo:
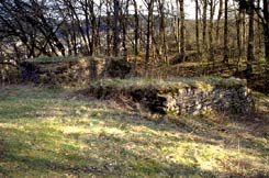
[[(117, 64), (117, 65), (114, 65)], [(119, 65), (121, 64), (121, 65)], [(127, 67), (123, 67), (123, 65)], [(76, 57), (61, 60), (26, 60), (21, 63), (21, 79), (42, 85), (89, 85), (103, 77), (124, 78), (131, 66), (110, 57)]]

